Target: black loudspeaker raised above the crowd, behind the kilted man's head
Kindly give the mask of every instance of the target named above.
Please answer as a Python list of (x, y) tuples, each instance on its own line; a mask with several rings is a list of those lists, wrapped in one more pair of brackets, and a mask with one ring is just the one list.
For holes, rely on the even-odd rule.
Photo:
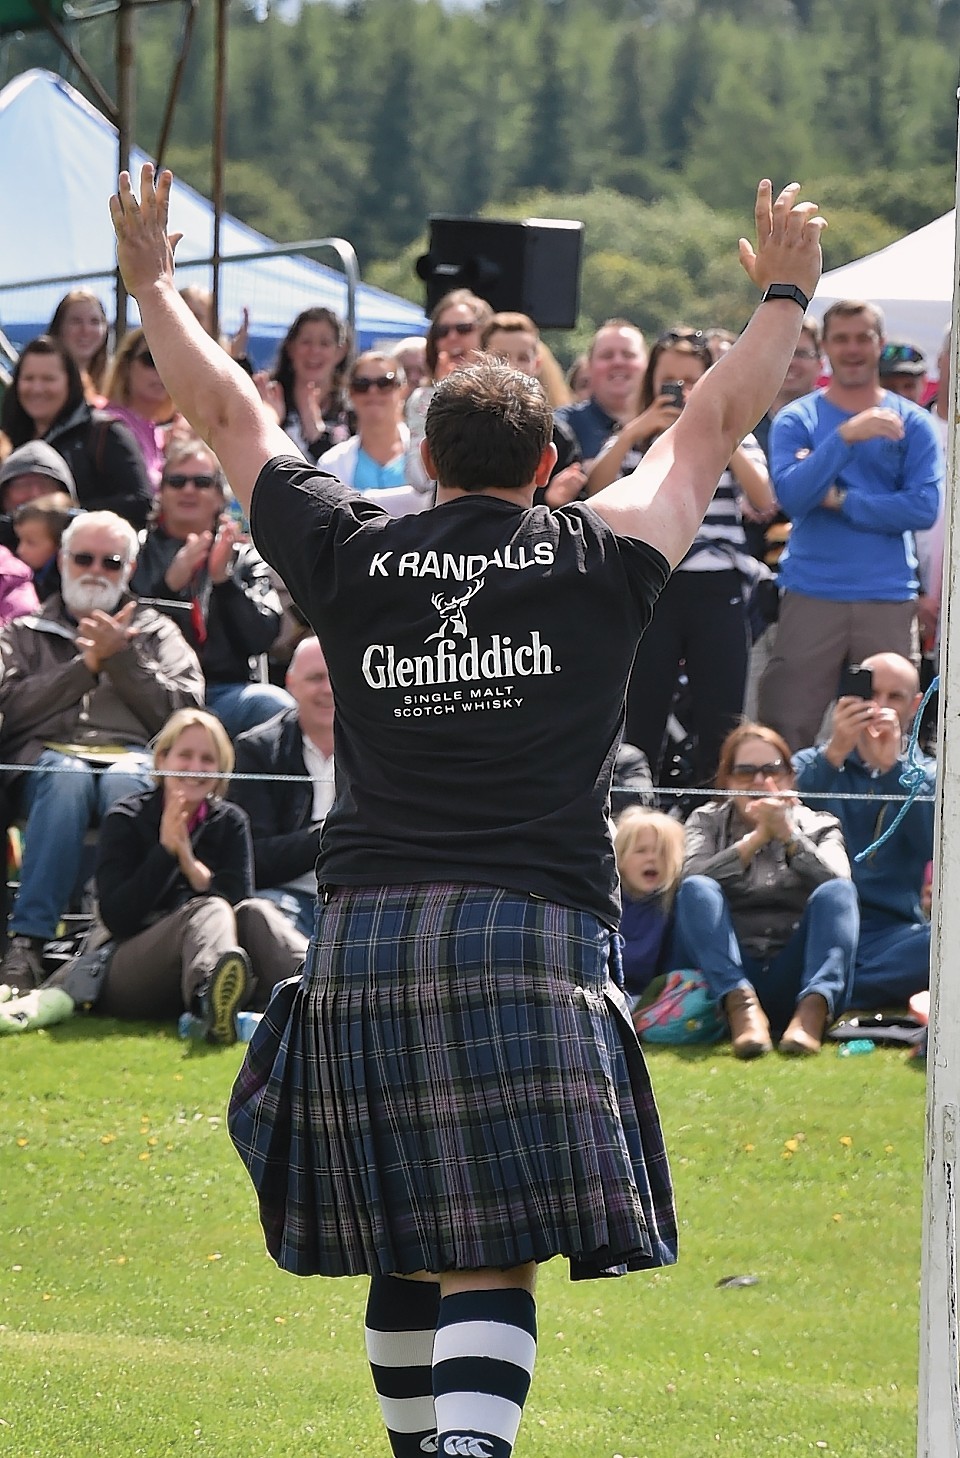
[(584, 225), (569, 219), (430, 216), (430, 251), (417, 260), (427, 313), (451, 289), (473, 289), (499, 313), (528, 313), (541, 330), (572, 330), (579, 312)]

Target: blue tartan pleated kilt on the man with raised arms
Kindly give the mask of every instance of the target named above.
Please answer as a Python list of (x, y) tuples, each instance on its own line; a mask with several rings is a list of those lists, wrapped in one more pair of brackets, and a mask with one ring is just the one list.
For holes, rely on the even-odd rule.
[(228, 1128), (299, 1276), (671, 1264), (659, 1117), (611, 933), (490, 886), (336, 889)]

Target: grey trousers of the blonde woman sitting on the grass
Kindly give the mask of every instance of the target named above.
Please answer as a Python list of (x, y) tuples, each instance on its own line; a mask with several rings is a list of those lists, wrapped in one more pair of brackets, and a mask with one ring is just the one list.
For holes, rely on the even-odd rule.
[(223, 897), (196, 897), (117, 946), (96, 1010), (108, 1018), (178, 1018), (217, 958), (235, 946), (248, 954), (255, 978), (247, 1005), (263, 1009), (274, 986), (302, 964), (308, 940), (270, 901), (232, 907)]

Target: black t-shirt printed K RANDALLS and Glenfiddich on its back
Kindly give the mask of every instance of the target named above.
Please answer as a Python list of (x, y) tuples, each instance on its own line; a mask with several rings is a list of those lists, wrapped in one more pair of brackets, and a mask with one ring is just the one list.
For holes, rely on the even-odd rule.
[(496, 885), (616, 924), (610, 776), (661, 554), (579, 503), (392, 518), (286, 456), (251, 529), (337, 704), (321, 882)]

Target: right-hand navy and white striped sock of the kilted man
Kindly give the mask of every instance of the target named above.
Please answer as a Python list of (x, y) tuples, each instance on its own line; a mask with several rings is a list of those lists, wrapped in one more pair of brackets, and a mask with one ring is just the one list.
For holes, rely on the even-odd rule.
[(433, 1343), (438, 1458), (509, 1458), (535, 1356), (530, 1292), (444, 1296)]

